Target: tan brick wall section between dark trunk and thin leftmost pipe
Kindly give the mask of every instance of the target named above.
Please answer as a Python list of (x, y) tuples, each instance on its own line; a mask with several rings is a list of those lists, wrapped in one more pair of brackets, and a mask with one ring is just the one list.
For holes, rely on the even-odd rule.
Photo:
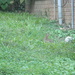
[(54, 19), (54, 3), (53, 0), (36, 0), (31, 13), (47, 16), (48, 18)]

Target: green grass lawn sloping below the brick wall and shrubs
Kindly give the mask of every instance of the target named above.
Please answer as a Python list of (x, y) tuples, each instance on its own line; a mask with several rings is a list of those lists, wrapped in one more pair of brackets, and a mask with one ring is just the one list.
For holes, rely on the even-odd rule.
[[(75, 30), (27, 13), (0, 12), (0, 75), (75, 75)], [(53, 42), (44, 42), (49, 34)]]

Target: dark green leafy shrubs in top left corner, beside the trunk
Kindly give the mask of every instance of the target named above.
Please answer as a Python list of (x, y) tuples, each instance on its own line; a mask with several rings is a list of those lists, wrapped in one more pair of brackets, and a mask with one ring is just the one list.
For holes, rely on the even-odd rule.
[(24, 11), (25, 4), (31, 0), (0, 0), (0, 10), (5, 11)]

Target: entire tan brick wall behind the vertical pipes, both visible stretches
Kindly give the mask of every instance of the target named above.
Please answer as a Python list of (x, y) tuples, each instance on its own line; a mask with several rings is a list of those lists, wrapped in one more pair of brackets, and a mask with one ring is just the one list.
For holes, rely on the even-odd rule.
[[(75, 1), (74, 1), (75, 2)], [(32, 0), (29, 11), (32, 14), (46, 16), (50, 19), (58, 19), (57, 2), (54, 0)], [(71, 0), (62, 0), (63, 23), (71, 23)]]

